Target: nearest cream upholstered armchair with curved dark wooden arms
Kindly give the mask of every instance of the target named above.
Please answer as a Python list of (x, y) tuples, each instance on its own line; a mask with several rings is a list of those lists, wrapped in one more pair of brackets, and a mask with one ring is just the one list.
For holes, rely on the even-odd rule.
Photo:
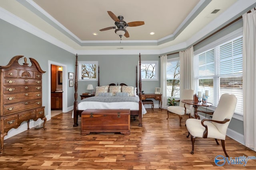
[(234, 94), (222, 94), (218, 106), (214, 112), (200, 111), (212, 115), (212, 119), (187, 119), (186, 127), (188, 129), (188, 136), (191, 135), (192, 151), (194, 154), (194, 143), (197, 137), (214, 138), (217, 145), (217, 139), (221, 140), (222, 149), (229, 157), (225, 149), (225, 139), (230, 119), (232, 118), (236, 108), (236, 96)]

